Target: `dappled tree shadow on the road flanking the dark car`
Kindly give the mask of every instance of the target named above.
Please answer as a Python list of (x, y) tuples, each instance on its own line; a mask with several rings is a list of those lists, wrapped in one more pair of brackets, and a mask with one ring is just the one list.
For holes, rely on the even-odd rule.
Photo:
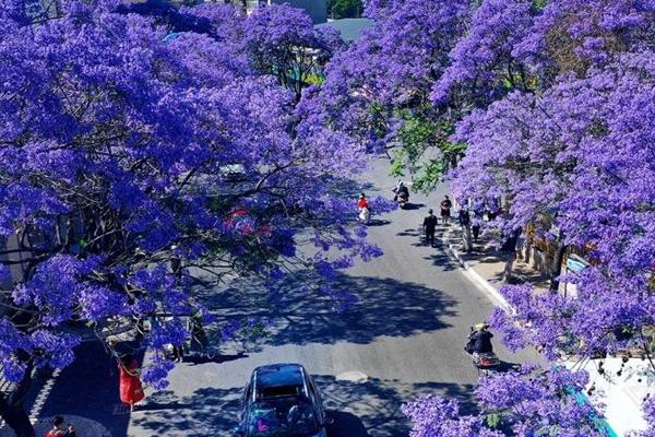
[[(331, 437), (407, 436), (410, 424), (401, 412), (403, 403), (421, 394), (440, 394), (462, 402), (464, 413), (473, 412), (474, 387), (457, 383), (403, 383), (369, 378), (362, 382), (314, 376), (323, 393), (329, 416), (335, 420)], [(246, 382), (246, 381), (243, 381)], [(231, 436), (238, 424), (242, 389), (202, 388), (190, 395), (170, 391), (155, 393), (148, 403), (133, 413), (131, 435), (184, 437)], [(166, 405), (170, 405), (166, 409)]]

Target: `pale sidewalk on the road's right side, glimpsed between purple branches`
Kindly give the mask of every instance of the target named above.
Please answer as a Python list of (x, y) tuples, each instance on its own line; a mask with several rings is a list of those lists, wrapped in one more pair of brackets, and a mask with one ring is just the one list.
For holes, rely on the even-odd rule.
[[(465, 252), (462, 231), (458, 225), (451, 225), (443, 233), (444, 248), (457, 259), (468, 276), (486, 291), (496, 305), (510, 308), (499, 290), (504, 284), (504, 270), (511, 253), (503, 253), (480, 236), (474, 243), (473, 251)], [(532, 283), (537, 290), (548, 287), (548, 277), (521, 260), (513, 264), (514, 283)], [(604, 362), (605, 371), (598, 373), (598, 363)], [(622, 363), (621, 358), (605, 358), (579, 363), (564, 363), (567, 367), (584, 369), (590, 373), (590, 387), (605, 394), (605, 417), (615, 435), (623, 436), (630, 430), (645, 429), (646, 422), (641, 411), (641, 403), (646, 393), (655, 395), (655, 373), (647, 363), (640, 358)]]

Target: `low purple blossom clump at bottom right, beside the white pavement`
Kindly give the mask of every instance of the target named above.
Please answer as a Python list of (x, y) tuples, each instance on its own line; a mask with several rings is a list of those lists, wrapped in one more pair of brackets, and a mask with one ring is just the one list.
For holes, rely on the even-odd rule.
[(413, 422), (412, 436), (605, 436), (597, 421), (602, 405), (580, 402), (586, 375), (561, 367), (519, 370), (484, 377), (476, 390), (479, 414), (462, 416), (455, 400), (427, 395), (403, 405)]

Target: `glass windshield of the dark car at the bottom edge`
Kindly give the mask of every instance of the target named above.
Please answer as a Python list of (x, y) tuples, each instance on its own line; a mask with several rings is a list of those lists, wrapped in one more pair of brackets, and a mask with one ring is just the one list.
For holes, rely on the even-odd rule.
[(254, 402), (248, 417), (248, 436), (306, 437), (319, 433), (314, 409), (298, 397)]

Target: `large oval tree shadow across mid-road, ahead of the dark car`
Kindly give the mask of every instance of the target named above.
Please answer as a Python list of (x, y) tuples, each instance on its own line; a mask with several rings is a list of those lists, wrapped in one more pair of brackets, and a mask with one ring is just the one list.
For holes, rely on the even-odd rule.
[[(332, 287), (352, 293), (359, 300), (341, 314), (335, 314), (326, 296), (313, 295), (301, 285), (298, 275), (281, 288), (275, 307), (269, 306), (272, 323), (266, 344), (367, 344), (382, 335), (409, 336), (448, 328), (451, 324), (446, 319), (457, 314), (456, 300), (443, 292), (394, 279), (336, 274)], [(247, 302), (238, 290), (222, 296), (221, 306), (229, 308), (229, 317), (248, 317), (253, 315), (252, 308), (266, 308), (265, 304)]]

